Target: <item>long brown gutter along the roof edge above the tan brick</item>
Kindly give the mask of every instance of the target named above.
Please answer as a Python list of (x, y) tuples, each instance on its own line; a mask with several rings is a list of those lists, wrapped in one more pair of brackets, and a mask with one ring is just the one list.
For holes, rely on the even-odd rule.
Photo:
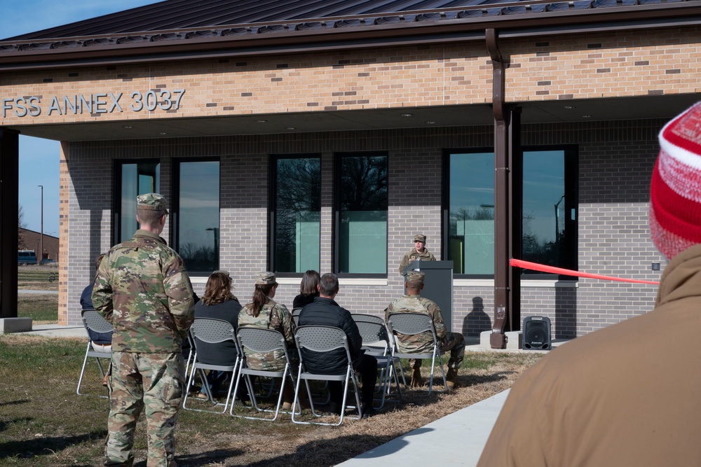
[[(501, 36), (516, 38), (693, 25), (701, 25), (701, 2), (522, 13), (459, 20), (426, 20), (311, 31), (175, 39), (162, 42), (114, 43), (107, 46), (5, 51), (0, 52), (0, 71), (90, 66), (95, 62), (103, 65), (161, 62), (205, 57), (246, 57), (406, 46), (418, 43), (474, 41), (484, 39), (486, 29), (498, 29)], [(163, 32), (151, 32), (149, 35), (157, 34), (163, 34)], [(119, 36), (134, 35), (120, 34)], [(116, 34), (109, 37), (115, 39)], [(81, 40), (86, 39), (93, 38), (81, 38)], [(69, 40), (71, 39), (66, 38), (55, 43)], [(36, 41), (20, 41), (17, 44), (21, 43), (36, 43)], [(0, 43), (0, 46), (14, 44)]]

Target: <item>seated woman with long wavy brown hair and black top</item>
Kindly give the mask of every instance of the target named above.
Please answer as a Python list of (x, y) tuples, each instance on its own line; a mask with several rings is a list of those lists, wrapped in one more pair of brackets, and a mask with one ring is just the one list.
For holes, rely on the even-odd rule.
[[(231, 277), (229, 272), (215, 271), (210, 274), (205, 286), (205, 294), (195, 304), (195, 318), (214, 318), (229, 321), (234, 329), (238, 325), (238, 312), (241, 304), (233, 293), (231, 293)], [(209, 363), (210, 365), (233, 365), (236, 362), (236, 344), (228, 340), (219, 344), (208, 344), (197, 340), (197, 359)], [(211, 370), (207, 376), (212, 396), (217, 394), (222, 383), (229, 373)], [(206, 399), (207, 393), (204, 388), (197, 395), (198, 398)]]

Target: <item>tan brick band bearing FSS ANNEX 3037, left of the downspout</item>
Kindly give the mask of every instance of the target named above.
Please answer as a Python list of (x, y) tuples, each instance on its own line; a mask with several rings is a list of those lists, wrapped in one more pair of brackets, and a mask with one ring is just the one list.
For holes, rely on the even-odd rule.
[[(0, 76), (0, 97), (36, 96), (41, 113), (20, 117), (12, 109), (1, 121), (17, 125), (482, 103), (491, 99), (488, 62), (482, 43), (465, 43), (5, 74)], [(175, 101), (178, 89), (186, 91), (177, 111), (131, 110), (139, 105), (132, 92), (160, 96), (170, 91)], [(101, 113), (69, 110), (62, 115), (54, 110), (49, 115), (54, 97), (63, 106), (63, 96), (89, 100), (96, 93), (107, 93), (100, 97)], [(110, 93), (122, 93), (118, 102), (123, 111), (113, 107)]]

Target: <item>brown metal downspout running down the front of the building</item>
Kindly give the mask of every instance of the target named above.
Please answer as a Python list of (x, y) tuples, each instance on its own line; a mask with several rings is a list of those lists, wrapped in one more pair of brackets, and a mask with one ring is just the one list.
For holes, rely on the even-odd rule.
[[(494, 326), (489, 336), (492, 349), (506, 347), (505, 328), (510, 320), (511, 170), (510, 123), (512, 106), (505, 104), (505, 70), (495, 29), (486, 29), (486, 48), (492, 63), (492, 110), (494, 111)], [(510, 328), (512, 326), (509, 326)]]

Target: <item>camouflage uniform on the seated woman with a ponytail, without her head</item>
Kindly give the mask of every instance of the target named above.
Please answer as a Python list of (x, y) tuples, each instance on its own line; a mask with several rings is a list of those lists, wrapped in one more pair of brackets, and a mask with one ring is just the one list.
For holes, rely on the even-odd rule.
[[(287, 307), (281, 303), (268, 298), (268, 302), (263, 305), (258, 316), (252, 315), (253, 303), (245, 305), (238, 312), (238, 327), (255, 326), (257, 328), (274, 329), (280, 331), (285, 336), (287, 351), (290, 354), (290, 363), (296, 366), (297, 354), (294, 352), (294, 321), (292, 314), (287, 311)], [(276, 350), (267, 354), (253, 354), (244, 349), (246, 365), (254, 370), (282, 371), (285, 368), (285, 354), (281, 350)]]

